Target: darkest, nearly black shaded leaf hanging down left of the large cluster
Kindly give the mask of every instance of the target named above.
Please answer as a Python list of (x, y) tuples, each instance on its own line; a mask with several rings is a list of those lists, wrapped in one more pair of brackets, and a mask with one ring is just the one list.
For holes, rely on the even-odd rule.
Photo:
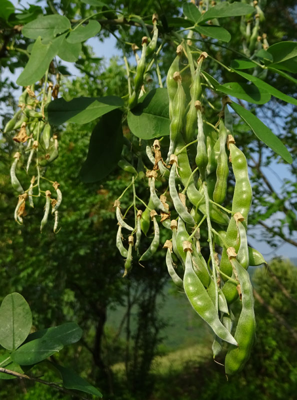
[(121, 118), (122, 112), (114, 109), (103, 115), (94, 127), (86, 160), (80, 170), (83, 182), (96, 182), (116, 166), (123, 146)]

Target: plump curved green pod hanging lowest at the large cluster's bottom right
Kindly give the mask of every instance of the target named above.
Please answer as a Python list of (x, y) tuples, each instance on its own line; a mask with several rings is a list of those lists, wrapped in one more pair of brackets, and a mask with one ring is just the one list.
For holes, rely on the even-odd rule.
[(239, 264), (235, 257), (231, 257), (230, 262), (236, 269), (240, 282), (242, 308), (234, 334), (238, 347), (230, 348), (225, 357), (225, 373), (227, 375), (240, 371), (245, 365), (254, 342), (256, 327), (252, 286), (248, 272)]

